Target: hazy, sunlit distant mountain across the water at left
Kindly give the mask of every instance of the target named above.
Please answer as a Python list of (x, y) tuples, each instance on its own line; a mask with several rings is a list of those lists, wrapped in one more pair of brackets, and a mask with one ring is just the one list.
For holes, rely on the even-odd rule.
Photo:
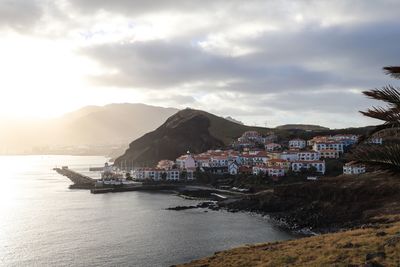
[(87, 106), (50, 120), (8, 121), (0, 132), (0, 153), (96, 154), (101, 147), (103, 153), (110, 153), (126, 148), (177, 111), (123, 103)]

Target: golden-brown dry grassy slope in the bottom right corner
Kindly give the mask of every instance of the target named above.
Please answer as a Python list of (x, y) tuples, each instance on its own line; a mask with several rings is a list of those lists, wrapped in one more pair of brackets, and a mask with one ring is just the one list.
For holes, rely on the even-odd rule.
[(178, 266), (399, 266), (400, 217), (376, 221), (363, 229), (239, 247)]

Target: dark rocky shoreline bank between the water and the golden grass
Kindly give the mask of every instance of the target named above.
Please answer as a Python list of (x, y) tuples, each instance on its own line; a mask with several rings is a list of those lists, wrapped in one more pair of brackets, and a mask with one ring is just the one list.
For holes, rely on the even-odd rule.
[(286, 230), (315, 235), (379, 223), (377, 216), (400, 212), (398, 192), (399, 177), (382, 174), (335, 177), (169, 209), (209, 208), (252, 212), (267, 216)]

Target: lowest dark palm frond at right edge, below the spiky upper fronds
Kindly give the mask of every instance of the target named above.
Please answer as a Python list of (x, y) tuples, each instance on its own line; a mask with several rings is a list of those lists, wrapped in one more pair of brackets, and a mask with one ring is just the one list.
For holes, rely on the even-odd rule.
[(380, 170), (400, 171), (400, 144), (359, 145), (348, 159), (375, 166)]

